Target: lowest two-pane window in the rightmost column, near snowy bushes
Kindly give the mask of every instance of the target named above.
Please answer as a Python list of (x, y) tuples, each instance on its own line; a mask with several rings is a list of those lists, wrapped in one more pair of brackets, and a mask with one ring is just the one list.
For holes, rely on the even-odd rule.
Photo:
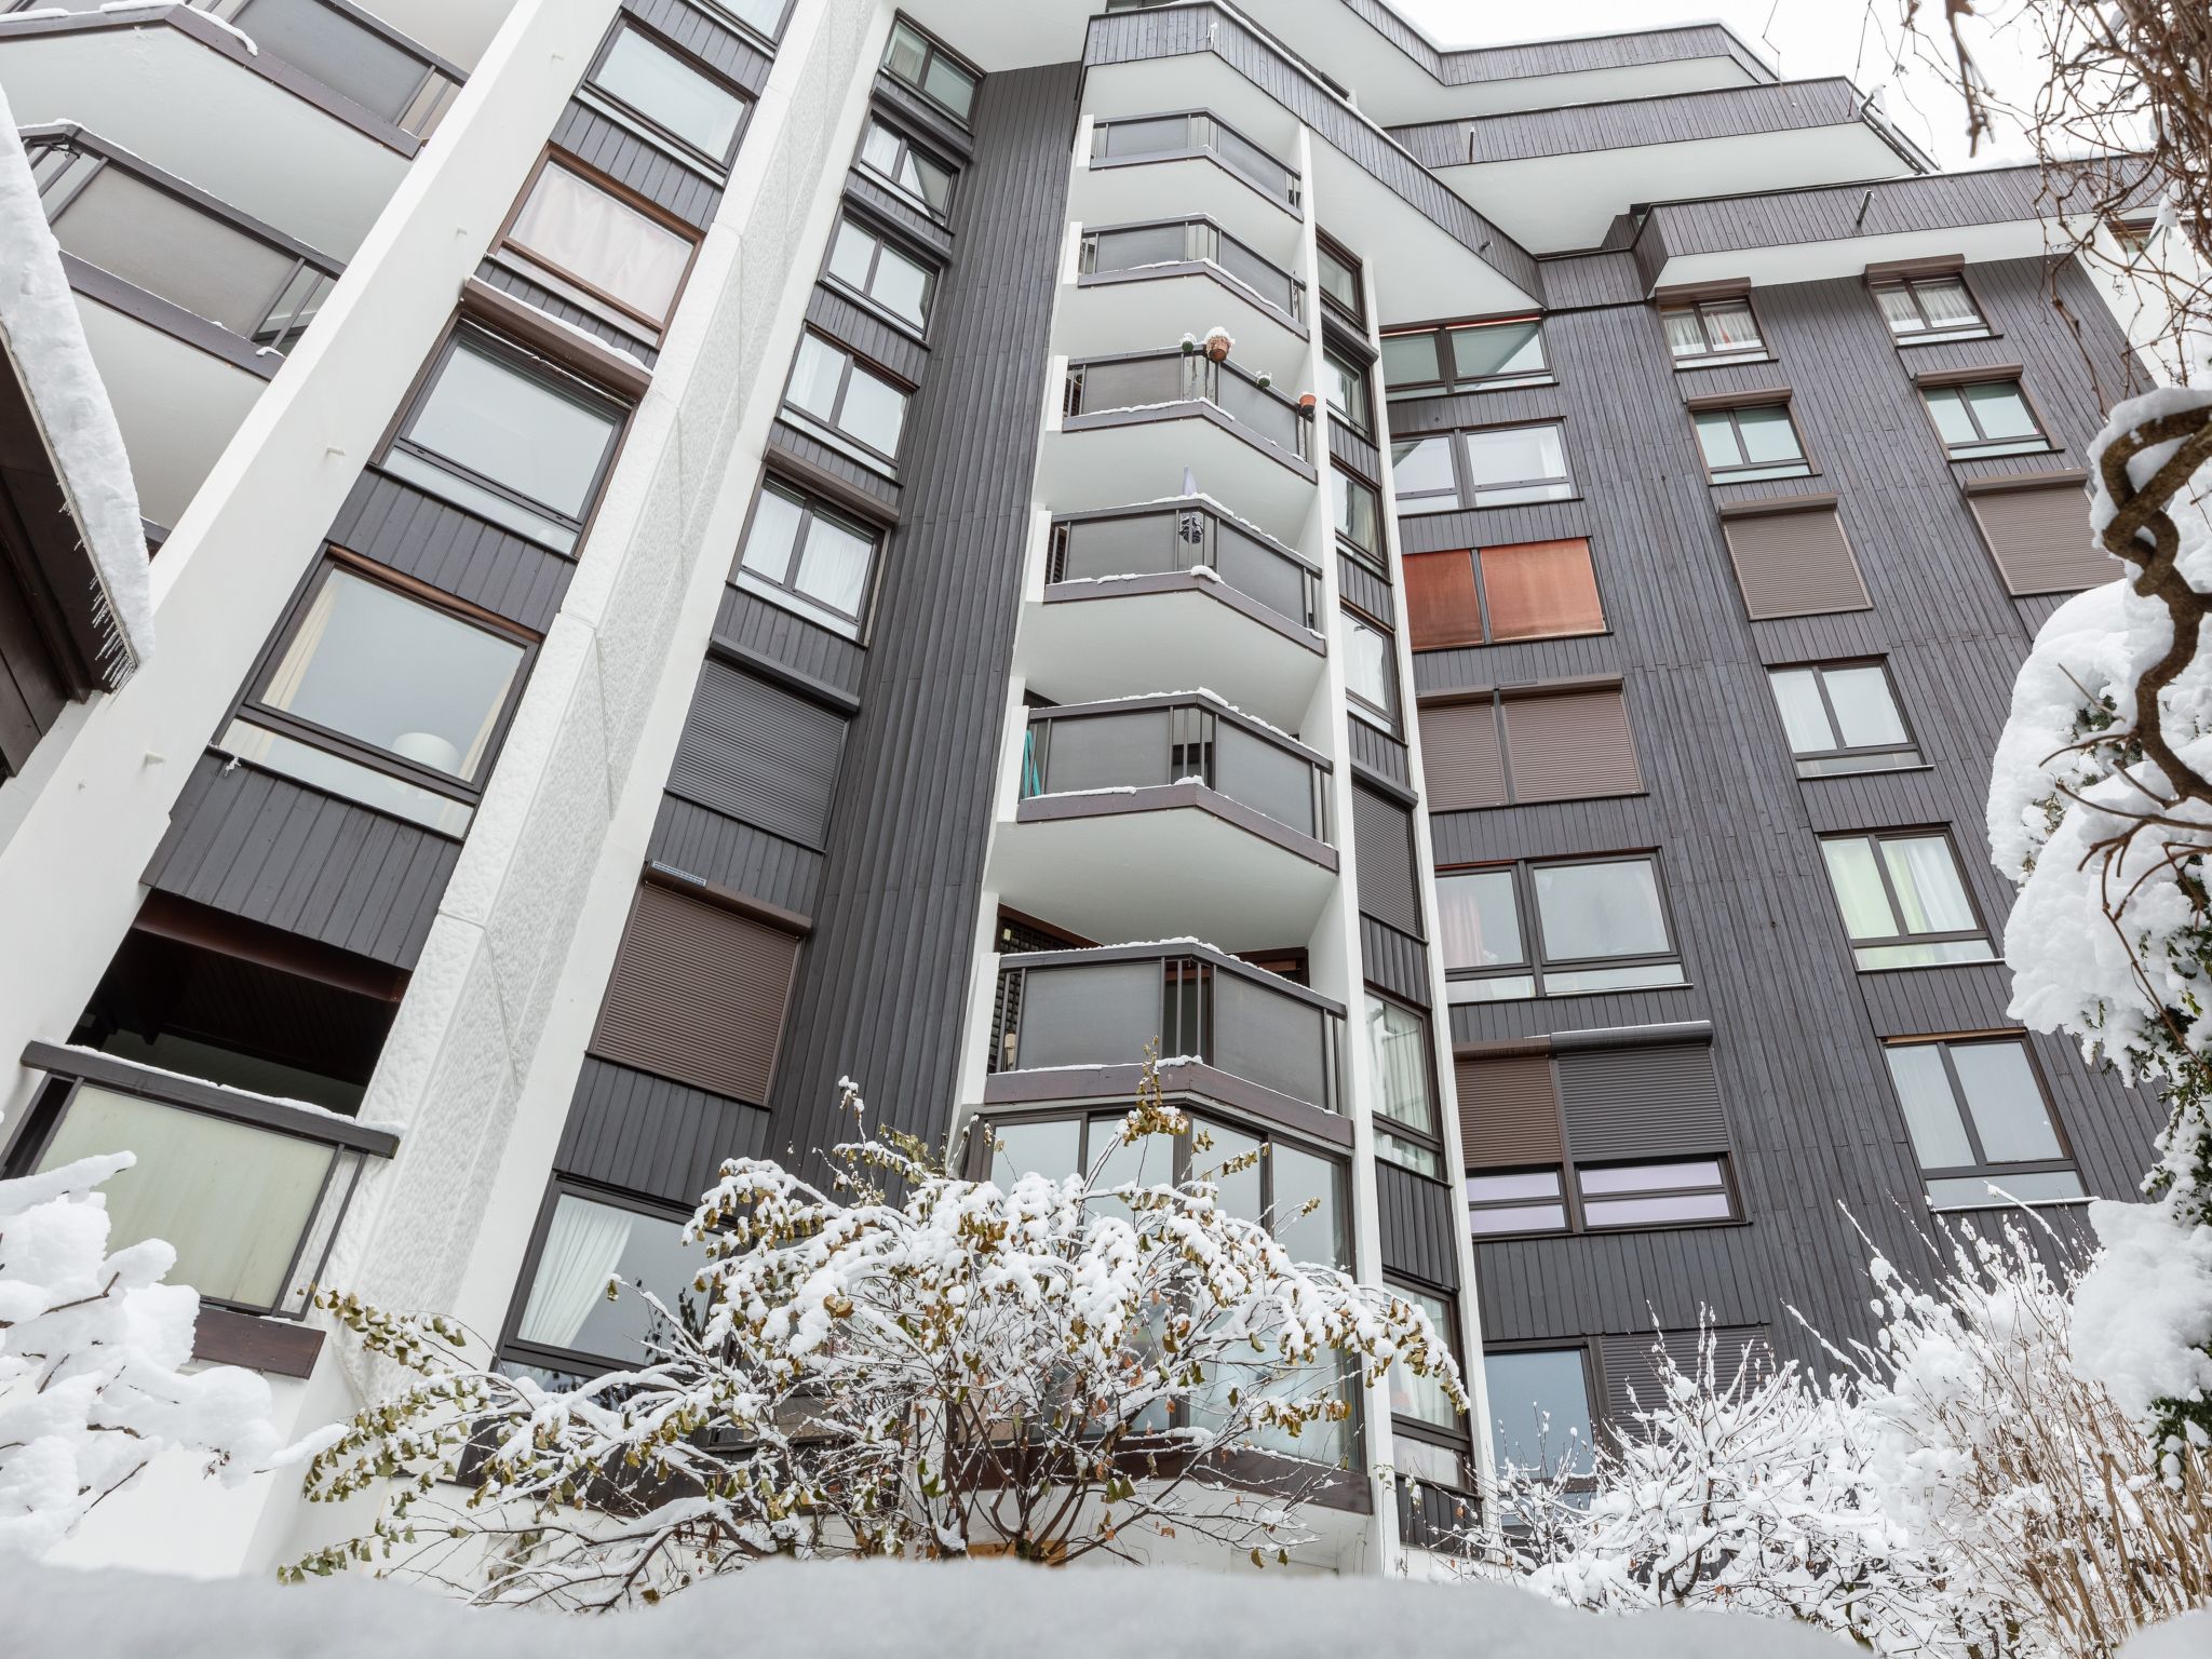
[(1931, 1208), (2084, 1197), (2024, 1042), (1898, 1042), (1885, 1053)]

